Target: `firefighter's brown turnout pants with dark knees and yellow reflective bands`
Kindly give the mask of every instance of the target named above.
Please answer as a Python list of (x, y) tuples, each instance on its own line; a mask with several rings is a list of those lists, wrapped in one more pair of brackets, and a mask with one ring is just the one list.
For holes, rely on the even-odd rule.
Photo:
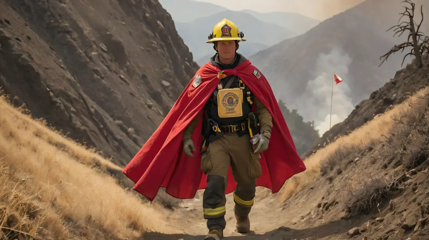
[(256, 180), (261, 176), (260, 155), (253, 153), (250, 135), (239, 136), (224, 133), (210, 143), (207, 155), (202, 157), (201, 170), (207, 175), (207, 188), (204, 191), (202, 206), (207, 227), (225, 229), (225, 187), (228, 168), (231, 165), (234, 180), (238, 183), (233, 196), (235, 213), (246, 216), (254, 203)]

